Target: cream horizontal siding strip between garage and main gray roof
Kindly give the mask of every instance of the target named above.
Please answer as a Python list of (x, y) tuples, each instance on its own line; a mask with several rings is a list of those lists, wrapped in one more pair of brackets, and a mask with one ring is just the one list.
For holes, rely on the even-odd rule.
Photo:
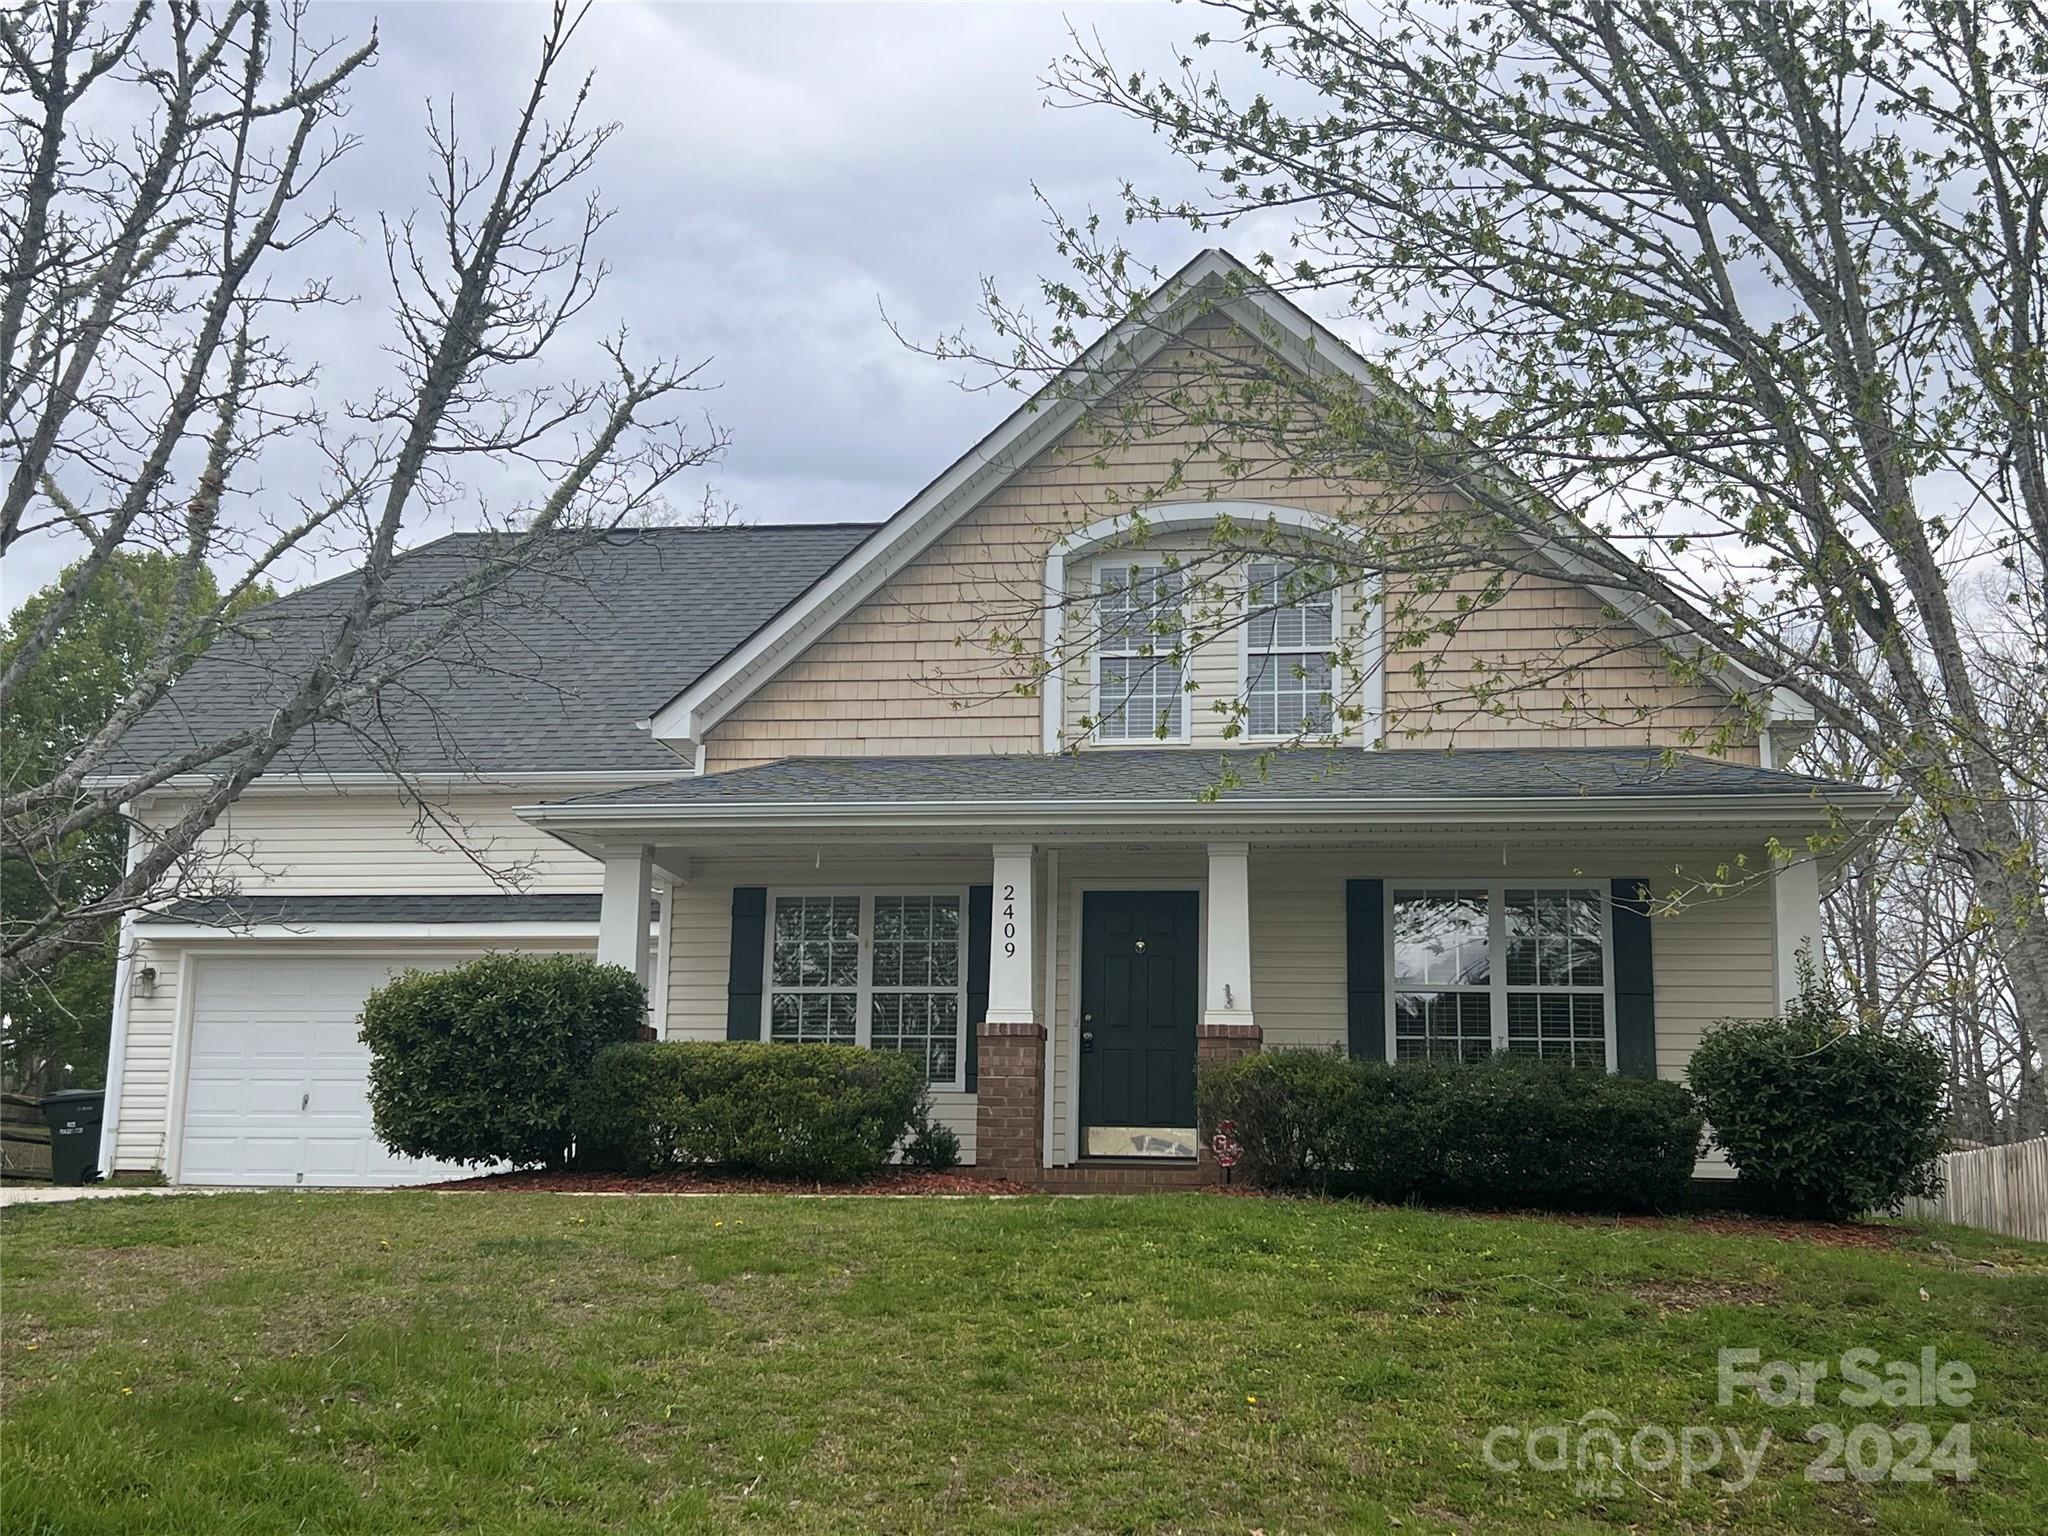
[[(604, 866), (526, 825), (514, 807), (557, 799), (457, 793), (434, 813), (391, 793), (250, 793), (199, 842), (193, 883), (229, 881), (266, 895), (600, 891)], [(143, 821), (176, 819), (178, 803)]]

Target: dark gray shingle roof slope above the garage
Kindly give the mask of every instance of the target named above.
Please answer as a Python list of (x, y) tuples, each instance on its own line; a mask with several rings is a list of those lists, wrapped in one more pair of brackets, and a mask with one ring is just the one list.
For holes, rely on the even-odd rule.
[[(465, 637), (410, 664), (375, 717), (299, 733), (272, 772), (672, 772), (635, 729), (844, 559), (870, 524), (637, 528), (522, 571)], [(453, 535), (393, 586), (434, 594), (487, 551)], [(279, 598), (213, 645), (123, 741), (135, 766), (260, 723), (324, 649), (356, 575)], [(428, 614), (420, 627), (438, 623)], [(377, 643), (401, 655), (420, 629)]]

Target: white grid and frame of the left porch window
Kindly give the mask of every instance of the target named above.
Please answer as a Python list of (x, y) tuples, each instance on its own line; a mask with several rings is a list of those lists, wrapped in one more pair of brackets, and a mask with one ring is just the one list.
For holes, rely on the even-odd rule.
[[(877, 903), (922, 903), (926, 915), (932, 903), (952, 903), (954, 950), (952, 985), (922, 981), (905, 983), (901, 971), (891, 975), (891, 952), (903, 958), (911, 944), (926, 946), (928, 938), (885, 938), (881, 940), (883, 965), (877, 979)], [(840, 920), (840, 932), (852, 938), (809, 938), (799, 934), (803, 944), (823, 944), (813, 958), (803, 956), (805, 969), (799, 981), (776, 975), (776, 938), (782, 911), (793, 907), (803, 918), (825, 911)], [(825, 924), (829, 928), (829, 922)], [(963, 1092), (967, 1087), (967, 889), (856, 889), (856, 891), (813, 891), (788, 889), (768, 893), (768, 934), (762, 948), (762, 1038), (770, 1042), (834, 1042), (864, 1044), (877, 1049), (922, 1051), (926, 1077), (932, 1087)], [(922, 961), (922, 954), (918, 956)], [(918, 965), (911, 965), (918, 971)], [(819, 979), (821, 977), (821, 979)], [(850, 977), (850, 981), (848, 981)], [(784, 1020), (778, 1032), (778, 1004)], [(936, 1032), (944, 1014), (952, 1014), (950, 1038)], [(881, 1030), (877, 1030), (881, 1014)], [(793, 1028), (791, 1028), (793, 1020)], [(950, 1063), (950, 1071), (932, 1075), (934, 1063)]]

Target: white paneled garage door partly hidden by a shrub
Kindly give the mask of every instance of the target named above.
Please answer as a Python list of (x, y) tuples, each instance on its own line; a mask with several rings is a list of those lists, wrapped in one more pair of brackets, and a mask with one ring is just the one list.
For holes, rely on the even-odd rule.
[(395, 1157), (371, 1130), (356, 1014), (406, 967), (473, 954), (221, 954), (193, 963), (180, 1184), (428, 1184), (475, 1169)]

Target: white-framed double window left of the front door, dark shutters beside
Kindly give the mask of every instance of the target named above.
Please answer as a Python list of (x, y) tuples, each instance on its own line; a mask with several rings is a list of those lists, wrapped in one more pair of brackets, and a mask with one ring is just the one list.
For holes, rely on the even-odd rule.
[(768, 1038), (903, 1051), (961, 1087), (967, 1028), (961, 891), (778, 891), (768, 924)]

